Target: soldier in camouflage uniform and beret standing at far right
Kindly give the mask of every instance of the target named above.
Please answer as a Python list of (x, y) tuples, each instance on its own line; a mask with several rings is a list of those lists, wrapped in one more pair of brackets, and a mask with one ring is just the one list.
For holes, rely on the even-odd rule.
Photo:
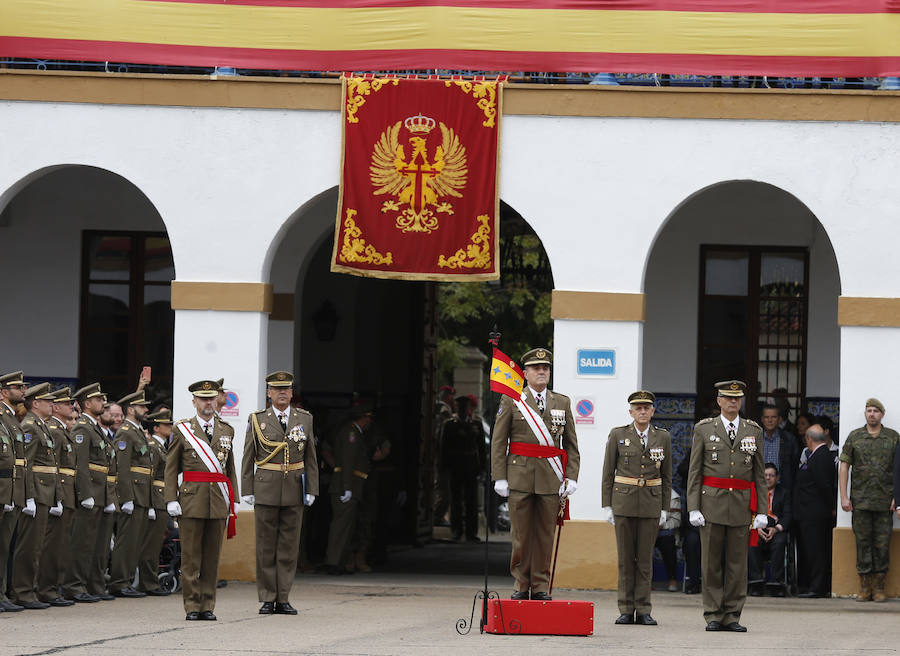
[[(838, 473), (841, 507), (853, 513), (856, 536), (856, 571), (860, 578), (857, 601), (885, 601), (884, 580), (890, 556), (894, 511), (894, 451), (900, 444), (897, 431), (882, 426), (884, 405), (866, 401), (866, 425), (851, 431), (841, 450)], [(847, 480), (853, 467), (853, 488)]]

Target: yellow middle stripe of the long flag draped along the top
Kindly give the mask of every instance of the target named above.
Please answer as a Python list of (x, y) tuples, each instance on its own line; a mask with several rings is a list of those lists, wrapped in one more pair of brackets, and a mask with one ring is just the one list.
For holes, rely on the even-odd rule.
[[(214, 48), (896, 57), (900, 15), (18, 0), (0, 35)], [(310, 29), (315, 25), (315, 29)], [(540, 29), (536, 29), (540, 26)]]

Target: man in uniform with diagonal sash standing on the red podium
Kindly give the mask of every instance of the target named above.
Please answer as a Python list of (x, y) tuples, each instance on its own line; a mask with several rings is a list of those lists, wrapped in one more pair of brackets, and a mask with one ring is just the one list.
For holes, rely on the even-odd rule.
[[(491, 434), (491, 478), (494, 490), (509, 497), (512, 537), (510, 571), (515, 582), (513, 599), (550, 599), (550, 558), (561, 500), (575, 493), (581, 459), (569, 397), (550, 391), (552, 354), (536, 348), (522, 356), (525, 398), (537, 420), (544, 424), (553, 446), (543, 444), (522, 410), (504, 396)], [(525, 410), (527, 412), (527, 410)], [(555, 473), (550, 458), (562, 458), (565, 467)], [(524, 453), (528, 455), (523, 455)], [(562, 481), (560, 481), (562, 478)]]

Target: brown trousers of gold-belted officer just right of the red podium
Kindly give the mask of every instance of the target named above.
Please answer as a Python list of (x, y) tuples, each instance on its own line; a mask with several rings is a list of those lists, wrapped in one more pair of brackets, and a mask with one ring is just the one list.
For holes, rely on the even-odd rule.
[(650, 614), (653, 583), (653, 548), (659, 532), (657, 517), (616, 515), (616, 548), (619, 552), (619, 612)]

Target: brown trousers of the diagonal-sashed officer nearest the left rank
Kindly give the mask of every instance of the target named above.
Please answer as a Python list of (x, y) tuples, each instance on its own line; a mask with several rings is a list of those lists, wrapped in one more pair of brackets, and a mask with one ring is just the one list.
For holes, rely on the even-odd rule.
[(226, 519), (181, 517), (181, 585), (184, 612), (216, 607), (219, 556), (225, 539)]

